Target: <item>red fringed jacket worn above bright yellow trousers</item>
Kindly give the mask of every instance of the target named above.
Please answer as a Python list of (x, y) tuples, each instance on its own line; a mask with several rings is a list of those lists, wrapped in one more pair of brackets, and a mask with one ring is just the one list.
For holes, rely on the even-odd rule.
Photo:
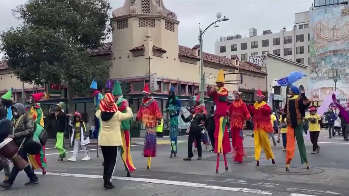
[(262, 101), (261, 103), (258, 103), (256, 101), (254, 103), (254, 110), (253, 110), (253, 130), (259, 130), (263, 129), (267, 133), (273, 133), (274, 128), (272, 126), (272, 123), (270, 123), (270, 113), (272, 112), (272, 109), (268, 106), (268, 104), (265, 101)]

